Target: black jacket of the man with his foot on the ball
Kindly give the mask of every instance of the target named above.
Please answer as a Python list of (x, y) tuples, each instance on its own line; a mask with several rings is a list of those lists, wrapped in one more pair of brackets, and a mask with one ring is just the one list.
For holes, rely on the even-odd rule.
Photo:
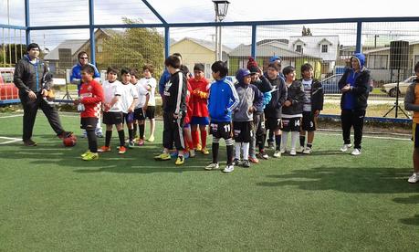
[(19, 89), (19, 96), (27, 95), (29, 91), (39, 93), (42, 89), (52, 87), (52, 74), (43, 60), (38, 59), (37, 64), (32, 64), (29, 58), (24, 56), (16, 64), (13, 81)]

